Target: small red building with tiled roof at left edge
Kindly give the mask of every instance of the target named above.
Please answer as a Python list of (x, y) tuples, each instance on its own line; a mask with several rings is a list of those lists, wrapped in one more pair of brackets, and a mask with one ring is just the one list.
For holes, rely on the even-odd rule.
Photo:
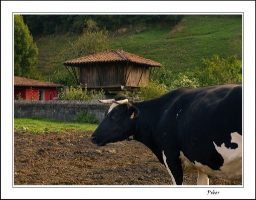
[(62, 84), (35, 80), (14, 76), (14, 99), (17, 94), (24, 100), (53, 100), (57, 97), (57, 87), (63, 87)]

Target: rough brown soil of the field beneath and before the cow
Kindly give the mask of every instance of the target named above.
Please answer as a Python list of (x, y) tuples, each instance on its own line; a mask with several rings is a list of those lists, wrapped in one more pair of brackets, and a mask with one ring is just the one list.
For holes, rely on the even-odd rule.
[[(14, 134), (15, 185), (171, 185), (165, 166), (142, 143), (122, 141), (99, 147), (92, 132)], [(197, 173), (184, 184), (196, 184)], [(210, 184), (241, 184), (210, 177)]]

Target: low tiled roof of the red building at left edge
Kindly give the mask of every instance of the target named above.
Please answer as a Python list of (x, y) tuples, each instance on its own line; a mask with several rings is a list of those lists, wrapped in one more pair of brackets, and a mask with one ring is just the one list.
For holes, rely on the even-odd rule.
[(14, 86), (63, 87), (62, 84), (14, 76)]

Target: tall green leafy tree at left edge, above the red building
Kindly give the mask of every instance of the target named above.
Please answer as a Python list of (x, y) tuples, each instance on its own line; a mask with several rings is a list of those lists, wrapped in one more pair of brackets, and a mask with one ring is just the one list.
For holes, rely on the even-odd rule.
[(14, 74), (39, 79), (36, 70), (38, 48), (20, 14), (14, 15)]

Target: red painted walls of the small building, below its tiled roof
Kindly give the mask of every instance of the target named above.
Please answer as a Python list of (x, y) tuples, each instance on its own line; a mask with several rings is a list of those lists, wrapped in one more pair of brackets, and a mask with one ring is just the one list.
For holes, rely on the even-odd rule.
[[(22, 98), (24, 100), (31, 100), (32, 96), (35, 96), (35, 100), (39, 100), (39, 90), (44, 90), (44, 100), (53, 100), (54, 97), (57, 97), (57, 89), (54, 87), (33, 87), (31, 91), (30, 87), (26, 88), (14, 88), (14, 99), (16, 95), (21, 92)], [(50, 95), (51, 94), (51, 95)]]

